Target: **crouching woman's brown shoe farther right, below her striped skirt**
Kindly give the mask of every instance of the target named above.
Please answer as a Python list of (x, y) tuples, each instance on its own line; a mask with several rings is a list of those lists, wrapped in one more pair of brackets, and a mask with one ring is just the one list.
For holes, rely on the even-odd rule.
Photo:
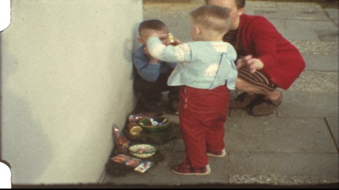
[(255, 105), (252, 109), (251, 114), (254, 116), (264, 116), (273, 114), (276, 108), (282, 103), (282, 92), (277, 100), (264, 97), (261, 102)]

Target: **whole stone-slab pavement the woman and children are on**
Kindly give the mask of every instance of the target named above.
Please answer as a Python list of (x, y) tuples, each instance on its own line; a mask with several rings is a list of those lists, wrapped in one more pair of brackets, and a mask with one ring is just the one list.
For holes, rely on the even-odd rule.
[[(189, 36), (188, 12), (203, 0), (144, 2), (144, 19), (163, 20), (174, 37)], [(230, 110), (224, 158), (210, 158), (208, 176), (181, 176), (170, 167), (183, 158), (182, 140), (166, 148), (166, 160), (144, 174), (107, 175), (103, 184), (145, 187), (305, 187), (339, 182), (338, 7), (311, 2), (246, 1), (247, 14), (268, 18), (302, 53), (306, 69), (287, 91), (275, 114), (254, 117)], [(232, 98), (239, 92), (232, 91)], [(167, 101), (164, 99), (164, 101)], [(178, 121), (176, 115), (165, 115)], [(144, 185), (144, 186), (143, 186)], [(331, 186), (330, 186), (331, 187)]]

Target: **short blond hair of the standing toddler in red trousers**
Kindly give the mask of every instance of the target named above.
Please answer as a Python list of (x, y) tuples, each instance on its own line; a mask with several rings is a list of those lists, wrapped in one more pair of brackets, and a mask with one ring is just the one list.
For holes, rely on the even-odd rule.
[(191, 12), (195, 24), (205, 29), (226, 33), (231, 25), (230, 9), (215, 5), (201, 6)]

